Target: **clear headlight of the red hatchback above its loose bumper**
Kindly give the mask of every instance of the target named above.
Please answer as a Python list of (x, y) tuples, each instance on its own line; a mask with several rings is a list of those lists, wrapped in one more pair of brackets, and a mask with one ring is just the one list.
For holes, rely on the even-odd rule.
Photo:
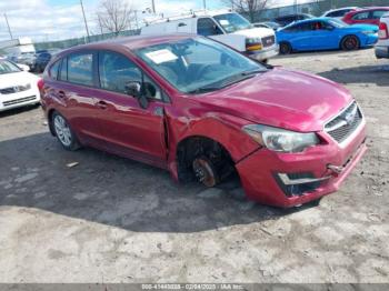
[(243, 131), (259, 144), (272, 151), (301, 152), (320, 141), (316, 133), (300, 133), (260, 124), (243, 127)]

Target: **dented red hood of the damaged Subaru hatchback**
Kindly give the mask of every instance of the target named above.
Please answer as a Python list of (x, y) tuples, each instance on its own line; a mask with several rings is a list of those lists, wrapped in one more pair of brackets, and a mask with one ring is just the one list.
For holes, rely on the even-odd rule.
[(301, 132), (322, 130), (352, 101), (338, 83), (282, 68), (196, 98), (213, 112)]

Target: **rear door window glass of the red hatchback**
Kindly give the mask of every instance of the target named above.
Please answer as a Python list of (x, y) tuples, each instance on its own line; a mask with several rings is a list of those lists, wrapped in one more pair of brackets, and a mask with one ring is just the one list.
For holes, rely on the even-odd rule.
[(93, 53), (77, 53), (68, 57), (68, 81), (93, 86)]

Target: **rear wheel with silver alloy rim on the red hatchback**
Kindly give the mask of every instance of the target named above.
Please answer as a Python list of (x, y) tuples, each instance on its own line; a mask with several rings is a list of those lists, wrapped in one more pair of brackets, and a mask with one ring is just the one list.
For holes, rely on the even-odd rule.
[(51, 122), (58, 141), (66, 150), (76, 151), (80, 148), (80, 143), (64, 117), (54, 112), (52, 113)]

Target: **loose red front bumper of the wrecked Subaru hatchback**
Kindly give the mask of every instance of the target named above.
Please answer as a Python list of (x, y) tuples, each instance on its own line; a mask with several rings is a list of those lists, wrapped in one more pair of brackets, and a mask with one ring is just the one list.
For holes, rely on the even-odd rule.
[[(367, 151), (366, 121), (345, 144), (337, 143), (325, 132), (319, 136), (325, 144), (305, 152), (277, 153), (262, 148), (237, 163), (247, 197), (263, 204), (290, 208), (336, 192)], [(296, 178), (296, 173), (309, 173), (310, 177)], [(300, 194), (286, 190), (288, 182), (300, 185), (305, 180), (310, 182), (306, 185), (313, 187), (303, 188), (305, 192)]]

